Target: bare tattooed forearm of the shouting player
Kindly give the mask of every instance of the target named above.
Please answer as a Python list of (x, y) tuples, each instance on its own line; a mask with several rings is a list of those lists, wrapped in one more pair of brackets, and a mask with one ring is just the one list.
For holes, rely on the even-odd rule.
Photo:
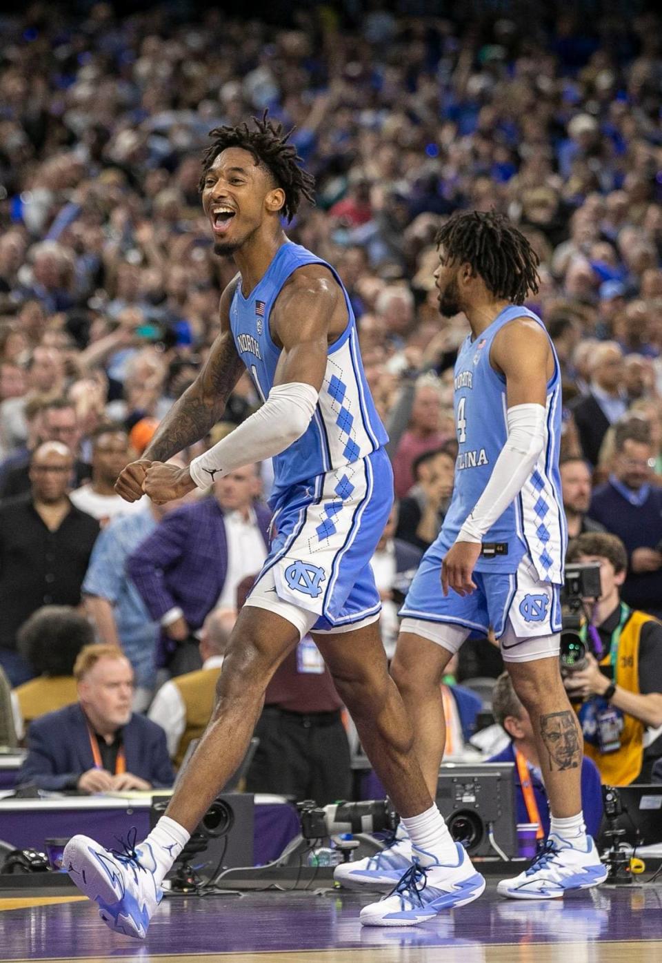
[(203, 438), (216, 424), (243, 370), (232, 336), (216, 343), (198, 381), (172, 405), (143, 457), (165, 461)]

